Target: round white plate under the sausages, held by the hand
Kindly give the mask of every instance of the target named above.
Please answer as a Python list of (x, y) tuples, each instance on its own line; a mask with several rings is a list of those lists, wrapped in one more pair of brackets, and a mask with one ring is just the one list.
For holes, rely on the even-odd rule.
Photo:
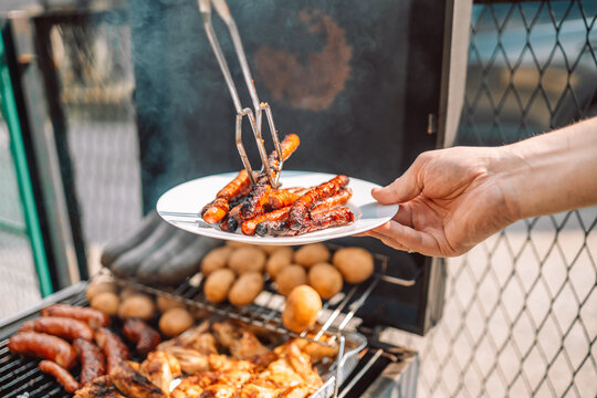
[[(305, 244), (354, 235), (381, 226), (398, 211), (398, 205), (381, 206), (371, 197), (371, 189), (379, 187), (378, 185), (350, 177), (348, 187), (353, 189), (353, 197), (347, 205), (355, 214), (355, 222), (349, 226), (328, 228), (296, 237), (250, 237), (243, 234), (240, 228), (234, 233), (226, 232), (220, 230), (218, 226), (206, 223), (200, 218), (199, 212), (237, 175), (238, 172), (226, 172), (198, 178), (174, 187), (159, 198), (157, 211), (172, 226), (192, 233), (237, 242), (271, 245)], [(336, 175), (291, 170), (284, 170), (280, 176), (283, 187), (313, 187), (334, 177)]]

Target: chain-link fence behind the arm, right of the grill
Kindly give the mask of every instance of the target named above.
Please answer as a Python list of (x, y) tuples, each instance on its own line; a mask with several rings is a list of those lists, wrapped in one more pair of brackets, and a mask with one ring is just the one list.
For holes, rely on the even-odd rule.
[[(595, 115), (596, 14), (595, 1), (475, 4), (458, 143)], [(597, 208), (523, 220), (450, 259), (442, 321), (394, 336), (420, 352), (420, 396), (595, 397), (596, 228)]]

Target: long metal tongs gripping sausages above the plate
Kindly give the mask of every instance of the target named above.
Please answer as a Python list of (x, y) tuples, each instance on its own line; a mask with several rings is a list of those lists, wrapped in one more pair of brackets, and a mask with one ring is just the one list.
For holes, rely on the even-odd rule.
[[(253, 176), (253, 169), (251, 168), (251, 163), (249, 161), (249, 157), (247, 156), (247, 151), (244, 150), (244, 146), (242, 144), (242, 118), (247, 116), (249, 117), (249, 122), (251, 123), (251, 128), (253, 129), (253, 135), (255, 137), (255, 142), (258, 145), (259, 155), (261, 157), (261, 161), (263, 165), (261, 170), (266, 174), (268, 179), (270, 180), (270, 185), (273, 188), (277, 188), (280, 171), (282, 170), (282, 166), (284, 163), (284, 158), (282, 157), (282, 148), (280, 146), (280, 140), (277, 138), (277, 132), (275, 130), (275, 125), (274, 125), (273, 116), (272, 116), (272, 109), (270, 108), (270, 105), (268, 105), (268, 103), (263, 103), (259, 101), (256, 90), (253, 84), (253, 77), (251, 76), (251, 71), (249, 70), (249, 63), (247, 62), (247, 56), (244, 55), (244, 50), (242, 48), (239, 30), (237, 29), (237, 24), (234, 23), (234, 20), (232, 19), (232, 15), (230, 14), (230, 10), (228, 8), (228, 4), (226, 3), (226, 0), (198, 0), (198, 2), (199, 2), (199, 11), (201, 12), (201, 17), (203, 19), (203, 25), (206, 28), (207, 36), (209, 39), (211, 48), (213, 49), (213, 52), (216, 53), (216, 57), (218, 59), (218, 64), (220, 65), (220, 69), (222, 70), (226, 84), (228, 85), (228, 90), (230, 91), (230, 95), (232, 96), (232, 102), (234, 103), (234, 108), (237, 109), (237, 124), (235, 124), (237, 148), (239, 149), (239, 154), (242, 159), (242, 164), (244, 165), (244, 169), (247, 170), (247, 172), (249, 174), (249, 177), (251, 178), (251, 184), (255, 185), (255, 177)], [(226, 25), (228, 27), (228, 30), (230, 31), (232, 44), (234, 45), (234, 51), (237, 52), (237, 56), (239, 59), (239, 62), (242, 69), (244, 83), (247, 84), (247, 88), (249, 90), (249, 93), (251, 94), (251, 100), (253, 102), (254, 111), (251, 109), (250, 107), (243, 108), (241, 105), (237, 86), (234, 82), (232, 81), (232, 75), (230, 74), (230, 70), (228, 69), (228, 63), (226, 62), (226, 57), (222, 53), (222, 49), (220, 48), (220, 43), (218, 42), (218, 39), (216, 38), (216, 32), (213, 31), (213, 25), (211, 23), (211, 6), (212, 4), (213, 4), (213, 8), (216, 9), (216, 12), (218, 12), (218, 15), (220, 15), (220, 18), (224, 21)], [(279, 163), (277, 165), (273, 165), (273, 166), (270, 165), (270, 161), (268, 159), (268, 153), (265, 150), (265, 146), (263, 145), (263, 138), (261, 137), (261, 121), (262, 121), (263, 112), (265, 112), (265, 116), (268, 117), (270, 133), (272, 135), (272, 139), (275, 146), (275, 151), (277, 153)]]

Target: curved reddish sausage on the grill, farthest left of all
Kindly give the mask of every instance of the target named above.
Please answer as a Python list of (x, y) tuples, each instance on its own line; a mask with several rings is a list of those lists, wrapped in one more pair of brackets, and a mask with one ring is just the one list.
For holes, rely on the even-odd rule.
[(8, 347), (13, 354), (32, 355), (55, 362), (70, 369), (76, 364), (74, 348), (60, 337), (35, 333), (20, 332), (10, 337)]

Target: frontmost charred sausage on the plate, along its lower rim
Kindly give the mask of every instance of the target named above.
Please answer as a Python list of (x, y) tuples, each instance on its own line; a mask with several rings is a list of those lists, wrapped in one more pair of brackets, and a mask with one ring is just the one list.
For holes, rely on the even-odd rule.
[(310, 219), (303, 221), (298, 230), (291, 229), (287, 221), (264, 221), (256, 226), (255, 232), (262, 237), (294, 237), (331, 227), (346, 226), (353, 221), (355, 221), (355, 216), (350, 209), (343, 207), (312, 214)]

